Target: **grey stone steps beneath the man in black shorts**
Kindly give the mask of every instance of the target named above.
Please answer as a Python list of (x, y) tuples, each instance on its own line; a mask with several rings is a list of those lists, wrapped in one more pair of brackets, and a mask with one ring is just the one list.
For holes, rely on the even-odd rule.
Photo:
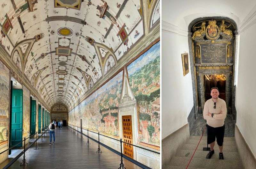
[[(224, 137), (223, 143), (223, 155), (224, 160), (219, 159), (219, 146), (215, 141), (214, 154), (211, 159), (206, 159), (208, 151), (203, 151), (203, 147), (206, 147), (206, 136), (202, 137), (197, 149), (196, 146), (201, 136), (190, 136), (187, 143), (184, 144), (180, 150), (177, 151), (175, 157), (172, 157), (171, 161), (164, 168), (168, 169), (185, 169), (188, 165), (190, 158), (194, 151), (195, 155), (192, 158), (188, 169), (243, 169), (242, 161), (240, 160), (235, 137)], [(210, 147), (210, 145), (209, 145)]]

